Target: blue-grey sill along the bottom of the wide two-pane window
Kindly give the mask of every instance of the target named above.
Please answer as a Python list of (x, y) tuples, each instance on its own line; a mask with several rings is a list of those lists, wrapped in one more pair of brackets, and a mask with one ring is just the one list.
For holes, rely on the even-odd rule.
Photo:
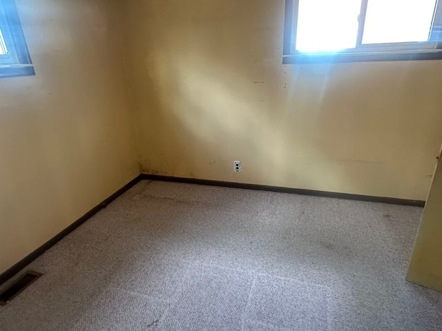
[(442, 52), (372, 52), (372, 53), (333, 53), (333, 54), (291, 54), (282, 57), (282, 64), (342, 63), (366, 61), (415, 61), (439, 60)]

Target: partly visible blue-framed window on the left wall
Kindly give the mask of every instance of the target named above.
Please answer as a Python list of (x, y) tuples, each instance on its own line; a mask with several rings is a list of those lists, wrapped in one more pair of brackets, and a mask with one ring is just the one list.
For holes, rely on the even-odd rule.
[(34, 73), (14, 0), (0, 0), (0, 78)]

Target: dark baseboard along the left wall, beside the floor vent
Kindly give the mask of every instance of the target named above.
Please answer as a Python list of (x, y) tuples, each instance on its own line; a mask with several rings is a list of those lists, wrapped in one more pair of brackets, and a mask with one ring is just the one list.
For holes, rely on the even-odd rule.
[(26, 265), (28, 265), (29, 263), (31, 263), (32, 261), (34, 261), (35, 259), (37, 259), (37, 257), (39, 257), (41, 254), (43, 254), (44, 252), (46, 252), (46, 250), (48, 250), (49, 248), (51, 248), (53, 245), (55, 245), (57, 242), (59, 242), (61, 239), (63, 239), (64, 237), (66, 237), (66, 235), (70, 234), (70, 232), (73, 232), (73, 230), (75, 230), (76, 228), (78, 228), (81, 224), (83, 224), (84, 222), (86, 222), (88, 219), (90, 219), (90, 217), (93, 217), (95, 214), (97, 214), (97, 212), (99, 212), (100, 210), (102, 210), (103, 208), (106, 208), (106, 206), (111, 203), (112, 201), (114, 201), (115, 199), (117, 199), (117, 197), (119, 197), (120, 195), (122, 195), (124, 192), (126, 192), (127, 190), (129, 190), (130, 188), (132, 188), (133, 185), (135, 185), (136, 183), (138, 183), (139, 181), (141, 181), (143, 179), (142, 175), (139, 175), (138, 177), (136, 177), (135, 179), (133, 179), (132, 181), (130, 181), (129, 183), (127, 183), (126, 185), (124, 185), (122, 188), (120, 188), (119, 190), (117, 190), (117, 192), (115, 192), (114, 194), (111, 195), (111, 197), (108, 197), (107, 199), (105, 199), (104, 201), (102, 201), (102, 203), (99, 203), (98, 205), (96, 205), (94, 208), (92, 208), (91, 210), (89, 210), (88, 212), (86, 212), (86, 214), (84, 214), (82, 217), (80, 217), (79, 219), (77, 219), (77, 221), (75, 221), (74, 223), (72, 223), (71, 225), (69, 225), (66, 229), (62, 230), (61, 232), (59, 232), (59, 234), (56, 234), (55, 237), (53, 237), (52, 239), (50, 239), (49, 241), (46, 241), (46, 243), (44, 243), (43, 245), (41, 245), (39, 248), (37, 248), (37, 250), (35, 250), (34, 252), (30, 253), (27, 257), (25, 257), (24, 259), (21, 259), (21, 261), (15, 263), (15, 265), (12, 265), (11, 268), (9, 268), (8, 270), (6, 270), (5, 272), (3, 272), (2, 274), (0, 274), (0, 285), (2, 285), (3, 283), (5, 283), (6, 281), (8, 281), (9, 279), (11, 279), (12, 277), (14, 277), (16, 274), (18, 274), (23, 268), (26, 268)]

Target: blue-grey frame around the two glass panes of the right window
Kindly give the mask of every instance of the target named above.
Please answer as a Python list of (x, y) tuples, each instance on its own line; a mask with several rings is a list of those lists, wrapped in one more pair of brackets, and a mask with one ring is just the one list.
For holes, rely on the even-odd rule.
[(365, 15), (369, 0), (361, 1), (356, 48), (338, 51), (300, 52), (296, 50), (299, 0), (285, 0), (283, 64), (362, 61), (410, 61), (442, 59), (442, 0), (436, 1), (429, 41), (363, 45)]

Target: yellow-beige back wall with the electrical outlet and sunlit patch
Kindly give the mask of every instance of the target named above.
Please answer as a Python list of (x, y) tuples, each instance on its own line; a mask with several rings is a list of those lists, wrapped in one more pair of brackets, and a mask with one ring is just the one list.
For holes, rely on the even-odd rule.
[(142, 172), (425, 200), (442, 61), (283, 66), (284, 7), (126, 1)]

